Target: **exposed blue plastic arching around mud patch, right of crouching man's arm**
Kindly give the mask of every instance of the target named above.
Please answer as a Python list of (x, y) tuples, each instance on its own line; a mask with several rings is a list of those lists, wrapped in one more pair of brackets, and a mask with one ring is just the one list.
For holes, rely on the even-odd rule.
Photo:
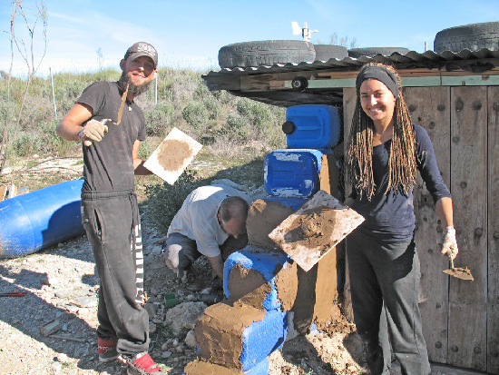
[(253, 246), (247, 246), (239, 252), (231, 253), (223, 267), (223, 291), (225, 296), (230, 298), (230, 271), (236, 265), (239, 265), (247, 270), (259, 271), (263, 278), (269, 281), (271, 290), (265, 297), (262, 307), (267, 311), (279, 309), (281, 303), (278, 298), (276, 281), (274, 280), (274, 271), (278, 266), (279, 268), (287, 268), (290, 262), (292, 262), (291, 258), (284, 252), (268, 252)]

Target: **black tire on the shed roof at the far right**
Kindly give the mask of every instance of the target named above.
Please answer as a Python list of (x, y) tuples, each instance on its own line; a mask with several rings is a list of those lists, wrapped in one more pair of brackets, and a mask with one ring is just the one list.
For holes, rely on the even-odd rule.
[(499, 22), (449, 27), (435, 35), (433, 44), (437, 54), (444, 51), (461, 52), (464, 49), (478, 51), (482, 48), (499, 49)]

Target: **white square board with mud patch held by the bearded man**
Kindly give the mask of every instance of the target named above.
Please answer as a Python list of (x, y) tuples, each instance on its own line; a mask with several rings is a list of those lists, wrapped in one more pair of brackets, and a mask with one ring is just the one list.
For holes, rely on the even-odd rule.
[(201, 147), (201, 143), (173, 128), (143, 165), (172, 185), (200, 152)]

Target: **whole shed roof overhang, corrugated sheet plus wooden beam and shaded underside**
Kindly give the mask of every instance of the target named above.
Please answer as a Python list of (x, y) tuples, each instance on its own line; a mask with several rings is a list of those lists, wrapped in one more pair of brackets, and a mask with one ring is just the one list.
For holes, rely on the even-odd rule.
[[(497, 84), (498, 82), (496, 77), (498, 76), (499, 51), (491, 51), (487, 48), (479, 51), (463, 50), (459, 53), (446, 51), (436, 54), (433, 51), (426, 51), (419, 54), (410, 51), (407, 54), (394, 53), (389, 56), (377, 54), (371, 57), (346, 57), (342, 60), (332, 58), (326, 62), (223, 68), (220, 71), (211, 71), (209, 74), (202, 75), (202, 78), (210, 90), (227, 90), (230, 94), (266, 104), (284, 107), (296, 104), (341, 104), (343, 87), (353, 87), (355, 84), (353, 73), (357, 72), (361, 65), (371, 61), (393, 64), (403, 80), (406, 79), (404, 74), (412, 74), (416, 70), (419, 71), (420, 81), (433, 76), (435, 82), (429, 85), (441, 85), (443, 81), (440, 75), (453, 75), (456, 72), (459, 75), (460, 71), (464, 71), (467, 78), (460, 76), (459, 80), (455, 80), (455, 84), (462, 84), (462, 78), (469, 79), (470, 77), (470, 84), (472, 84), (471, 81), (473, 78), (476, 81), (478, 75), (491, 73), (494, 74), (492, 76), (494, 79), (480, 79), (478, 80), (480, 84)], [(428, 77), (425, 77), (426, 73), (422, 72), (426, 70)], [(437, 76), (435, 76), (435, 71), (438, 71)], [(329, 83), (327, 82), (328, 74), (331, 78)], [(334, 77), (335, 75), (337, 77)], [(352, 75), (349, 80), (338, 79), (338, 77), (347, 78), (348, 75)], [(289, 85), (297, 76), (307, 77), (308, 88), (306, 90), (295, 91)], [(335, 80), (337, 84), (331, 84)], [(406, 86), (407, 83), (404, 82), (404, 85)]]

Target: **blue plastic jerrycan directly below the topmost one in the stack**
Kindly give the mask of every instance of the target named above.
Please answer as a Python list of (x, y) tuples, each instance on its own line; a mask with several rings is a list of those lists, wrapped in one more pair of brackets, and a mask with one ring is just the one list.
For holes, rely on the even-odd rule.
[(263, 185), (274, 196), (307, 198), (318, 192), (321, 157), (330, 150), (276, 150), (265, 157)]

